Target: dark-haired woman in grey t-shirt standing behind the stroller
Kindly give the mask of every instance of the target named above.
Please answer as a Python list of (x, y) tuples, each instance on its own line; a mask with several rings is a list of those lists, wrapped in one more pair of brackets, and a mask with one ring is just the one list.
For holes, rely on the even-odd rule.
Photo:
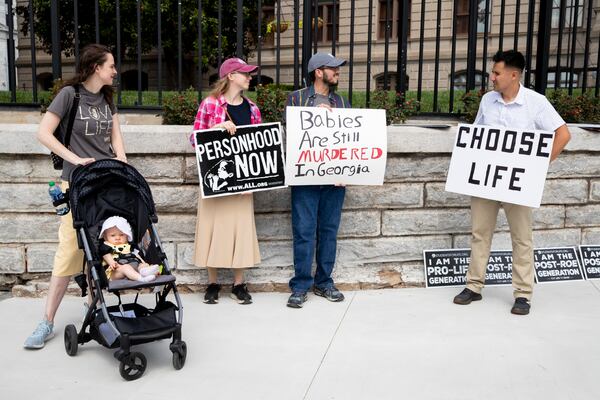
[[(100, 44), (84, 47), (75, 77), (65, 81), (40, 122), (38, 140), (64, 160), (63, 191), (69, 187), (71, 172), (79, 165), (104, 158), (127, 162), (117, 109), (113, 104), (112, 82), (116, 75), (115, 61), (108, 47)], [(60, 127), (64, 137), (76, 96), (79, 96), (79, 104), (67, 148), (53, 133)], [(82, 271), (83, 252), (77, 246), (71, 213), (61, 217), (58, 241), (44, 319), (25, 341), (24, 347), (28, 349), (40, 349), (54, 336), (54, 316), (71, 276)]]

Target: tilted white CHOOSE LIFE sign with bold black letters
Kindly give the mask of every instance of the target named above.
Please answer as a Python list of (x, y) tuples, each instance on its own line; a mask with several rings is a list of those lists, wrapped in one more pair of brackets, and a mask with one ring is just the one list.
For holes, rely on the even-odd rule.
[(458, 125), (446, 191), (539, 207), (554, 132)]

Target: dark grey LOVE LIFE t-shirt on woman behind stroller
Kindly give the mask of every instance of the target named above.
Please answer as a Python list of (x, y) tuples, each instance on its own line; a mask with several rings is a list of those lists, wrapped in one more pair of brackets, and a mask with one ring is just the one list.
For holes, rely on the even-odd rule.
[[(117, 109), (109, 105), (102, 92), (91, 93), (79, 85), (79, 106), (73, 122), (69, 149), (83, 158), (113, 158), (115, 153), (110, 145), (112, 135), (112, 117)], [(69, 124), (69, 114), (75, 97), (75, 88), (66, 86), (60, 90), (48, 111), (60, 118), (60, 132), (64, 138)], [(75, 169), (73, 164), (64, 162), (61, 178), (69, 180), (71, 172)]]

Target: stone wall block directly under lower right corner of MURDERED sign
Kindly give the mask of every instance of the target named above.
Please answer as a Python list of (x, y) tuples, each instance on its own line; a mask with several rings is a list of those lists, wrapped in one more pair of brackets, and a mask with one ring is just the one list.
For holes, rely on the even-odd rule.
[(407, 208), (423, 205), (423, 184), (386, 183), (383, 186), (349, 186), (344, 208)]

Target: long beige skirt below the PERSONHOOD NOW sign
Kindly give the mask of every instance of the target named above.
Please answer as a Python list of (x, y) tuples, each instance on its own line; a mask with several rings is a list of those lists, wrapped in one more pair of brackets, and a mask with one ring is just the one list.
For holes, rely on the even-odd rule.
[(252, 194), (198, 199), (194, 264), (248, 268), (260, 263)]

